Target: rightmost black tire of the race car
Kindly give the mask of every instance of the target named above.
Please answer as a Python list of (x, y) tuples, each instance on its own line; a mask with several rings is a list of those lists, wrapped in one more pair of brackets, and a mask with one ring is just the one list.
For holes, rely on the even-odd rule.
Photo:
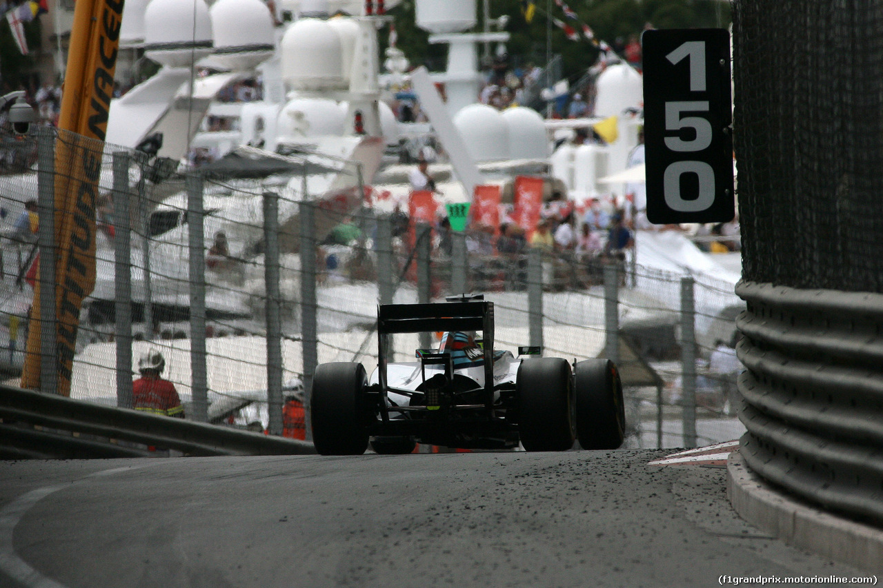
[(575, 370), (577, 439), (583, 449), (617, 449), (625, 437), (619, 370), (609, 359), (586, 359)]

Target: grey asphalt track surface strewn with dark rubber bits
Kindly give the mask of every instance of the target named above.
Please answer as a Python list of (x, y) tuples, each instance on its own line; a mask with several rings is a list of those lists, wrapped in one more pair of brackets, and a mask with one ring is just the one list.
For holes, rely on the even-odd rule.
[(745, 524), (722, 466), (647, 464), (671, 453), (0, 462), (0, 585), (655, 587), (859, 575)]

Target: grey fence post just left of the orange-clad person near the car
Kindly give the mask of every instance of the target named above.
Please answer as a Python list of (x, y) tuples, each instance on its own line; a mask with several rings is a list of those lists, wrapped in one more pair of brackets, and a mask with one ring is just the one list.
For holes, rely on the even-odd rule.
[(282, 321), (279, 295), (279, 194), (264, 192), (264, 283), (267, 290), (267, 412), (269, 431), (283, 433)]

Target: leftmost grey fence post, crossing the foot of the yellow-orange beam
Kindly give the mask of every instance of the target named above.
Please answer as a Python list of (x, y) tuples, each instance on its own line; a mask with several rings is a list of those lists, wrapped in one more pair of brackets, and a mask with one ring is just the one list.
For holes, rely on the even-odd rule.
[(37, 210), (40, 214), (37, 246), (40, 251), (40, 388), (56, 394), (56, 241), (55, 241), (55, 132), (41, 128), (37, 135)]

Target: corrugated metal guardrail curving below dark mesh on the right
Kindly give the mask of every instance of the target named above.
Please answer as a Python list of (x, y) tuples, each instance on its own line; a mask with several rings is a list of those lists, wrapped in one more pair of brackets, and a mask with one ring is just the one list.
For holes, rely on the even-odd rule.
[(736, 294), (745, 461), (826, 509), (883, 521), (883, 295), (751, 282)]

